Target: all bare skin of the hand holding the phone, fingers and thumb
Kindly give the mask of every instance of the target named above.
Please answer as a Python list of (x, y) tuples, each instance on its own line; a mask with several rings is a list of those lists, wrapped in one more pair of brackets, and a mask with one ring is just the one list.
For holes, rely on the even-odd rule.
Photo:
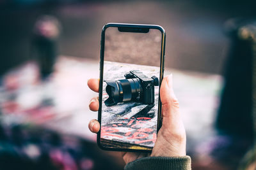
[[(99, 92), (99, 79), (88, 80), (88, 87), (94, 92)], [(160, 98), (162, 102), (162, 127), (157, 133), (156, 143), (151, 153), (151, 157), (182, 157), (186, 155), (186, 132), (180, 116), (179, 102), (173, 92), (172, 74), (163, 78), (160, 88)], [(89, 108), (92, 111), (99, 110), (99, 100), (93, 97)], [(90, 131), (97, 133), (100, 124), (93, 119), (88, 124)], [(132, 162), (141, 157), (146, 157), (146, 153), (122, 152), (125, 163)]]

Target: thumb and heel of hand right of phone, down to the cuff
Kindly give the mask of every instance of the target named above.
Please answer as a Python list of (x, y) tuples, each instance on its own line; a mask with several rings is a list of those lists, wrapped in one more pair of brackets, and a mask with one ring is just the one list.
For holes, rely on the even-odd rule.
[(179, 102), (172, 89), (172, 74), (163, 79), (160, 88), (163, 124), (157, 133), (152, 157), (186, 155), (186, 131), (179, 112)]

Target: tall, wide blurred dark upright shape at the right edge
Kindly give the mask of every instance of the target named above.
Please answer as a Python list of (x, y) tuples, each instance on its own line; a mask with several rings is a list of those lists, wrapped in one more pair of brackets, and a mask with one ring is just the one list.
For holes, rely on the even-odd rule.
[(231, 48), (216, 125), (220, 132), (252, 140), (252, 57), (255, 54), (252, 38), (247, 34), (255, 22), (234, 18), (228, 20), (226, 27)]

